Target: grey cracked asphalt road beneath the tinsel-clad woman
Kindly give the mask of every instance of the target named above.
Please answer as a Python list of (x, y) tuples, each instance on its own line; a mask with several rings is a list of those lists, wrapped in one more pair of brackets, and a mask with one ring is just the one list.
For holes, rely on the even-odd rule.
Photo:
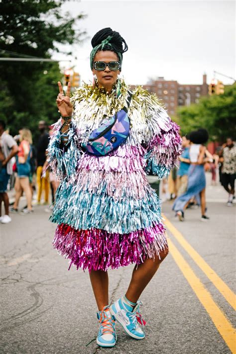
[[(236, 204), (229, 208), (226, 200), (222, 187), (208, 187), (211, 220), (206, 223), (199, 220), (199, 210), (188, 210), (185, 222), (180, 223), (171, 203), (163, 203), (168, 225), (181, 235), (173, 228), (172, 232), (167, 230), (173, 245), (170, 254), (141, 296), (146, 338), (132, 340), (117, 325), (114, 349), (101, 349), (92, 341), (98, 323), (88, 271), (73, 267), (68, 271), (68, 260), (52, 248), (55, 225), (48, 222), (45, 207), (35, 207), (31, 215), (12, 215), (10, 224), (0, 224), (0, 353), (233, 352), (231, 326), (235, 317), (227, 299), (230, 289), (236, 290)], [(188, 242), (185, 248), (181, 236)], [(188, 245), (193, 247), (192, 253)], [(221, 291), (196, 264), (196, 254), (211, 267), (211, 274), (215, 271), (220, 277), (215, 285), (222, 285)], [(208, 269), (206, 264), (204, 270)], [(132, 266), (109, 271), (111, 302), (125, 293), (131, 271)]]

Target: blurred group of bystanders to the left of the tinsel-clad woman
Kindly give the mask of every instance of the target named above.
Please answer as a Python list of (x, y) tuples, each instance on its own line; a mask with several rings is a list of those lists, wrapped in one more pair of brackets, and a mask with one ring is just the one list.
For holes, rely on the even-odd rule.
[[(6, 130), (5, 122), (0, 120), (0, 222), (2, 224), (11, 222), (10, 213), (21, 215), (32, 213), (34, 197), (36, 205), (40, 205), (42, 196), (44, 197), (42, 203), (48, 207), (45, 211), (50, 212), (53, 208), (58, 181), (50, 172), (46, 161), (52, 126), (49, 126), (49, 132), (47, 128), (46, 122), (40, 120), (38, 123), (40, 135), (34, 144), (28, 128), (20, 129), (18, 134), (12, 137)], [(7, 194), (9, 189), (14, 189), (15, 192), (11, 203)], [(19, 209), (19, 201), (23, 195), (26, 205)]]

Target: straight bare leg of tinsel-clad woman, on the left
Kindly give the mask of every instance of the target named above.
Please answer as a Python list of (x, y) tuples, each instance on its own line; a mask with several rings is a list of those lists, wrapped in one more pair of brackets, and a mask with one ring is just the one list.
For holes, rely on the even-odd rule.
[(99, 311), (102, 311), (104, 306), (109, 305), (108, 272), (104, 272), (103, 270), (91, 270), (89, 276), (94, 291), (94, 296), (98, 305), (98, 309)]

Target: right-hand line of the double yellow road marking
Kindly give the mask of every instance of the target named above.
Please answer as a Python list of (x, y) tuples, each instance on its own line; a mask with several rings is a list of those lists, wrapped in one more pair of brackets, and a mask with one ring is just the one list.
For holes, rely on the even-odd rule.
[(211, 280), (215, 287), (220, 291), (224, 298), (229, 302), (229, 304), (236, 310), (236, 295), (234, 292), (226, 285), (226, 283), (217, 275), (217, 273), (207, 264), (207, 262), (200, 256), (200, 254), (195, 251), (195, 249), (186, 241), (184, 236), (171, 224), (171, 222), (164, 217), (164, 223), (167, 229), (171, 232), (173, 236), (179, 241), (181, 246), (188, 252), (188, 254), (193, 258), (199, 268), (206, 274), (206, 276)]

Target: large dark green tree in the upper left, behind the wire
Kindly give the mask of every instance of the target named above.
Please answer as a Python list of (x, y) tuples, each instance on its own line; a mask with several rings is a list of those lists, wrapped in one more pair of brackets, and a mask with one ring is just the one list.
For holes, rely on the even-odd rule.
[[(85, 32), (76, 28), (84, 15), (62, 14), (63, 2), (1, 0), (0, 56), (50, 58), (59, 52), (59, 44), (70, 55), (70, 46), (61, 44), (80, 43), (85, 38)], [(0, 72), (0, 118), (7, 121), (11, 134), (27, 126), (36, 137), (38, 120), (52, 123), (58, 119), (55, 101), (57, 81), (62, 79), (58, 63), (0, 61)]]

